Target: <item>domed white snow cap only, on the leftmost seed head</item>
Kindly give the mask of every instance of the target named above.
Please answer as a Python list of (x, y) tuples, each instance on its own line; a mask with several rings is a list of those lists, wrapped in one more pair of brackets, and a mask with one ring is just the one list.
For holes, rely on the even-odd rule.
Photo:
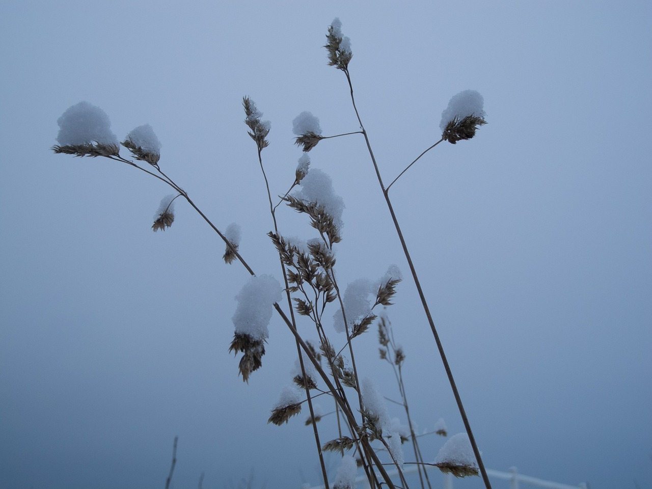
[(69, 107), (57, 119), (59, 145), (84, 143), (118, 144), (118, 138), (111, 132), (111, 121), (106, 112), (88, 102), (79, 102)]

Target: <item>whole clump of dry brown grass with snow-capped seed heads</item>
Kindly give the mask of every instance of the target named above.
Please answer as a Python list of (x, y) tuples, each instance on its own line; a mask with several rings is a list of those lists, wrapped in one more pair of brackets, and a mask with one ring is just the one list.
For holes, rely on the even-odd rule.
[[(319, 119), (308, 111), (300, 113), (293, 121), (293, 132), (297, 136), (295, 143), (301, 147), (303, 155), (299, 158), (298, 165), (294, 170), (292, 168), (278, 170), (281, 167), (274, 165), (274, 171), (286, 171), (284, 175), (286, 175), (286, 183), (289, 187), (286, 192), (273, 192), (269, 179), (267, 179), (263, 150), (269, 145), (271, 123), (261, 119), (263, 113), (251, 98), (248, 96), (243, 98), (244, 123), (248, 127), (249, 136), (256, 144), (258, 160), (256, 163), (261, 170), (269, 200), (269, 214), (273, 231), (270, 231), (267, 236), (278, 252), (278, 263), (276, 264), (278, 268), (274, 274), (267, 270), (267, 273), (257, 274), (241, 256), (239, 252), (241, 226), (239, 224), (233, 223), (224, 231), (218, 229), (190, 199), (183, 187), (161, 170), (161, 145), (151, 126), (138, 126), (128, 132), (125, 141), (120, 144), (128, 149), (131, 159), (124, 158), (119, 154), (118, 140), (110, 130), (108, 115), (88, 102), (80, 102), (65, 111), (57, 121), (60, 128), (57, 136), (59, 144), (52, 149), (55, 153), (75, 156), (104, 156), (144, 171), (170, 186), (174, 193), (164, 197), (161, 201), (152, 226), (154, 231), (170, 228), (175, 217), (173, 203), (176, 199), (181, 198), (180, 201), (185, 200), (222, 239), (226, 245), (224, 261), (239, 263), (250, 275), (236, 296), (237, 308), (231, 318), (234, 333), (229, 351), (235, 352), (236, 355), (243, 354), (238, 369), (243, 381), (247, 382), (253, 372), (262, 366), (265, 342), (270, 334), (268, 325), (274, 311), (288, 327), (297, 348), (297, 364), (289, 378), (293, 385), (284, 387), (278, 401), (271, 407), (268, 421), (278, 425), (284, 424), (301, 412), (303, 407), (308, 407), (310, 416), (306, 424), (312, 427), (326, 488), (329, 488), (330, 485), (323, 452), (331, 451), (342, 455), (340, 469), (338, 469), (334, 482), (332, 481), (334, 488), (353, 489), (357, 467), (360, 466), (370, 487), (380, 489), (381, 486), (387, 486), (389, 489), (394, 489), (396, 486), (385, 469), (386, 463), (383, 463), (380, 458), (380, 456), (389, 456), (389, 464), (398, 470), (400, 486), (408, 489), (408, 482), (402, 473), (406, 455), (401, 444), (411, 440), (415, 456), (415, 462), (412, 463), (422, 466), (424, 460), (409, 415), (403, 382), (402, 364), (406, 358), (405, 353), (400, 346), (394, 343), (393, 333), (384, 314), (379, 319), (381, 357), (389, 361), (394, 368), (402, 398), (402, 403), (399, 404), (404, 405), (408, 426), (389, 417), (383, 396), (379, 394), (372, 381), (366, 378), (361, 380), (363, 377), (358, 371), (355, 361), (355, 349), (359, 341), (356, 338), (368, 331), (370, 325), (379, 316), (379, 308), (392, 304), (396, 287), (402, 280), (402, 274), (396, 265), (391, 265), (387, 272), (377, 280), (359, 278), (349, 283), (346, 289), (340, 287), (336, 273), (336, 246), (343, 239), (344, 201), (333, 188), (331, 177), (325, 171), (312, 168), (310, 158), (306, 155), (308, 151), (316, 147), (319, 141), (361, 134), (369, 151), (381, 192), (389, 207), (411, 276), (466, 428), (464, 443), (455, 441), (452, 449), (447, 449), (447, 451), (443, 449), (443, 455), (440, 453), (438, 457), (438, 460), (441, 460), (437, 466), (443, 470), (453, 472), (456, 470), (458, 473), (466, 475), (471, 471), (462, 470), (459, 467), (473, 467), (471, 462), (477, 460), (477, 468), (481, 471), (485, 485), (489, 489), (490, 485), (486, 479), (486, 473), (466, 413), (464, 413), (462, 401), (455, 387), (441, 341), (432, 321), (432, 315), (419, 284), (417, 272), (409, 258), (408, 246), (389, 198), (389, 190), (400, 176), (441, 141), (456, 143), (456, 141), (469, 140), (475, 136), (477, 128), (486, 123), (482, 96), (469, 90), (454, 96), (448, 108), (443, 111), (440, 126), (442, 132), (439, 141), (423, 151), (389, 186), (385, 186), (361, 116), (355, 106), (353, 84), (349, 74), (349, 63), (353, 56), (351, 40), (342, 34), (342, 23), (339, 19), (333, 20), (328, 28), (326, 38), (325, 48), (328, 53), (329, 65), (342, 70), (346, 75), (351, 93), (351, 103), (357, 118), (354, 123), (359, 126), (360, 130), (334, 136), (323, 136)], [(141, 166), (139, 162), (145, 162), (145, 164)], [(280, 196), (280, 198), (275, 196)], [(281, 204), (285, 205), (279, 209)], [(304, 241), (281, 232), (276, 215), (287, 207), (308, 218), (308, 224), (314, 228), (310, 231), (306, 226), (306, 230), (313, 235), (311, 239)], [(363, 251), (361, 251), (361, 255), (364, 256)], [(278, 276), (279, 279), (276, 280), (274, 276)], [(334, 329), (330, 327), (331, 318), (334, 318)], [(299, 323), (301, 323), (302, 333), (299, 333)], [(308, 329), (306, 329), (306, 325), (308, 325)], [(306, 340), (304, 331), (311, 331), (311, 334), (318, 338), (315, 346)], [(338, 335), (334, 331), (339, 331), (340, 334)], [(344, 337), (341, 333), (344, 333)], [(328, 427), (320, 428), (319, 426), (323, 426), (323, 422), (320, 421), (331, 413), (323, 414), (322, 409), (313, 403), (316, 396), (327, 396), (333, 402), (334, 411), (331, 413), (334, 413), (334, 418), (337, 420), (336, 432), (329, 431), (325, 442), (321, 441), (323, 432), (320, 435), (320, 430), (325, 431)], [(443, 433), (441, 433), (442, 430)], [(437, 433), (445, 435), (445, 428), (439, 428)], [(455, 439), (458, 440), (458, 438)], [(372, 443), (374, 444), (372, 445)], [(445, 445), (444, 448), (446, 449), (447, 446)], [(464, 450), (460, 447), (463, 447)], [(460, 456), (460, 453), (464, 456)], [(430, 486), (427, 477), (425, 481)], [(168, 484), (169, 482), (168, 478)], [(421, 477), (422, 489), (425, 489), (424, 484), (424, 478)]]

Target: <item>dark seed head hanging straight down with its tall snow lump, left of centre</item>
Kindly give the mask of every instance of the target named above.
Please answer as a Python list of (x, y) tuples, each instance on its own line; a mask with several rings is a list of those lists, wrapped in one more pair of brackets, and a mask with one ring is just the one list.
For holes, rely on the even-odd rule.
[(252, 276), (235, 296), (238, 306), (233, 314), (235, 334), (229, 351), (244, 353), (239, 370), (245, 382), (258, 370), (265, 355), (267, 325), (272, 317), (272, 306), (281, 299), (281, 286), (269, 275)]

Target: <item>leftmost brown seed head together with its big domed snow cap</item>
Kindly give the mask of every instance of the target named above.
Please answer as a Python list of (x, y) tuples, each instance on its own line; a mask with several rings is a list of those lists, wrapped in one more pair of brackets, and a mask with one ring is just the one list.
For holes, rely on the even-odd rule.
[(119, 153), (118, 138), (111, 132), (106, 112), (89, 102), (69, 107), (59, 119), (58, 145), (55, 153), (75, 156), (115, 156)]

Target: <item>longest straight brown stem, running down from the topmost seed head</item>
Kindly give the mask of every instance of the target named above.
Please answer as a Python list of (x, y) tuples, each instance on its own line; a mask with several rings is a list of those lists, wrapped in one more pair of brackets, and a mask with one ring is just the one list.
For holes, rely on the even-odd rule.
[(417, 276), (417, 271), (412, 262), (412, 258), (409, 256), (408, 245), (406, 244), (401, 228), (398, 225), (398, 220), (396, 219), (396, 215), (394, 214), (394, 208), (392, 207), (392, 202), (389, 199), (389, 194), (387, 193), (387, 189), (383, 185), (383, 179), (380, 175), (378, 164), (376, 163), (376, 157), (374, 156), (374, 151), (372, 151), (371, 143), (369, 142), (369, 138), (366, 134), (366, 130), (364, 130), (362, 119), (360, 118), (360, 114), (357, 110), (357, 107), (355, 106), (355, 97), (353, 96), (353, 84), (351, 83), (351, 76), (349, 76), (348, 69), (345, 69), (343, 71), (344, 74), (346, 74), (346, 80), (349, 83), (349, 89), (351, 89), (351, 103), (353, 104), (353, 110), (355, 110), (355, 115), (357, 116), (358, 122), (360, 123), (360, 127), (362, 128), (364, 141), (366, 142), (369, 155), (371, 156), (371, 160), (374, 165), (374, 170), (376, 170), (376, 177), (378, 177), (378, 183), (380, 185), (381, 190), (383, 191), (383, 196), (385, 196), (385, 202), (387, 202), (387, 208), (389, 209), (389, 213), (392, 216), (392, 221), (394, 222), (394, 227), (396, 228), (396, 233), (398, 234), (398, 239), (400, 239), (403, 252), (406, 256), (406, 259), (408, 260), (408, 265), (409, 265), (410, 272), (412, 274), (412, 278), (414, 280), (415, 286), (417, 287), (417, 291), (419, 292), (419, 298), (421, 299), (423, 310), (426, 313), (426, 318), (428, 318), (428, 324), (430, 325), (430, 330), (432, 331), (432, 335), (435, 338), (437, 349), (439, 350), (439, 356), (441, 357), (441, 362), (444, 365), (444, 368), (446, 370), (446, 375), (448, 376), (449, 383), (451, 384), (451, 389), (455, 397), (455, 402), (457, 403), (457, 407), (460, 411), (460, 417), (462, 417), (462, 422), (464, 422), (464, 428), (466, 428), (466, 433), (469, 436), (469, 441), (471, 442), (471, 448), (473, 449), (473, 454), (475, 454), (475, 458), (478, 462), (478, 466), (482, 474), (482, 480), (484, 481), (484, 485), (486, 486), (486, 489), (491, 489), (491, 482), (489, 482), (489, 477), (486, 473), (486, 470), (484, 469), (484, 464), (482, 463), (482, 456), (480, 454), (477, 444), (475, 443), (475, 437), (473, 437), (473, 431), (471, 430), (471, 424), (469, 424), (469, 420), (466, 416), (466, 411), (464, 410), (464, 405), (462, 404), (462, 398), (460, 398), (460, 393), (458, 392), (457, 386), (455, 384), (455, 380), (452, 376), (451, 367), (449, 366), (448, 360), (446, 359), (446, 355), (444, 353), (441, 340), (439, 339), (439, 334), (437, 333), (437, 329), (435, 327), (435, 323), (432, 320), (432, 315), (430, 314), (430, 308), (428, 307), (428, 303), (426, 302), (426, 296), (424, 295), (423, 290), (421, 289), (419, 276)]

